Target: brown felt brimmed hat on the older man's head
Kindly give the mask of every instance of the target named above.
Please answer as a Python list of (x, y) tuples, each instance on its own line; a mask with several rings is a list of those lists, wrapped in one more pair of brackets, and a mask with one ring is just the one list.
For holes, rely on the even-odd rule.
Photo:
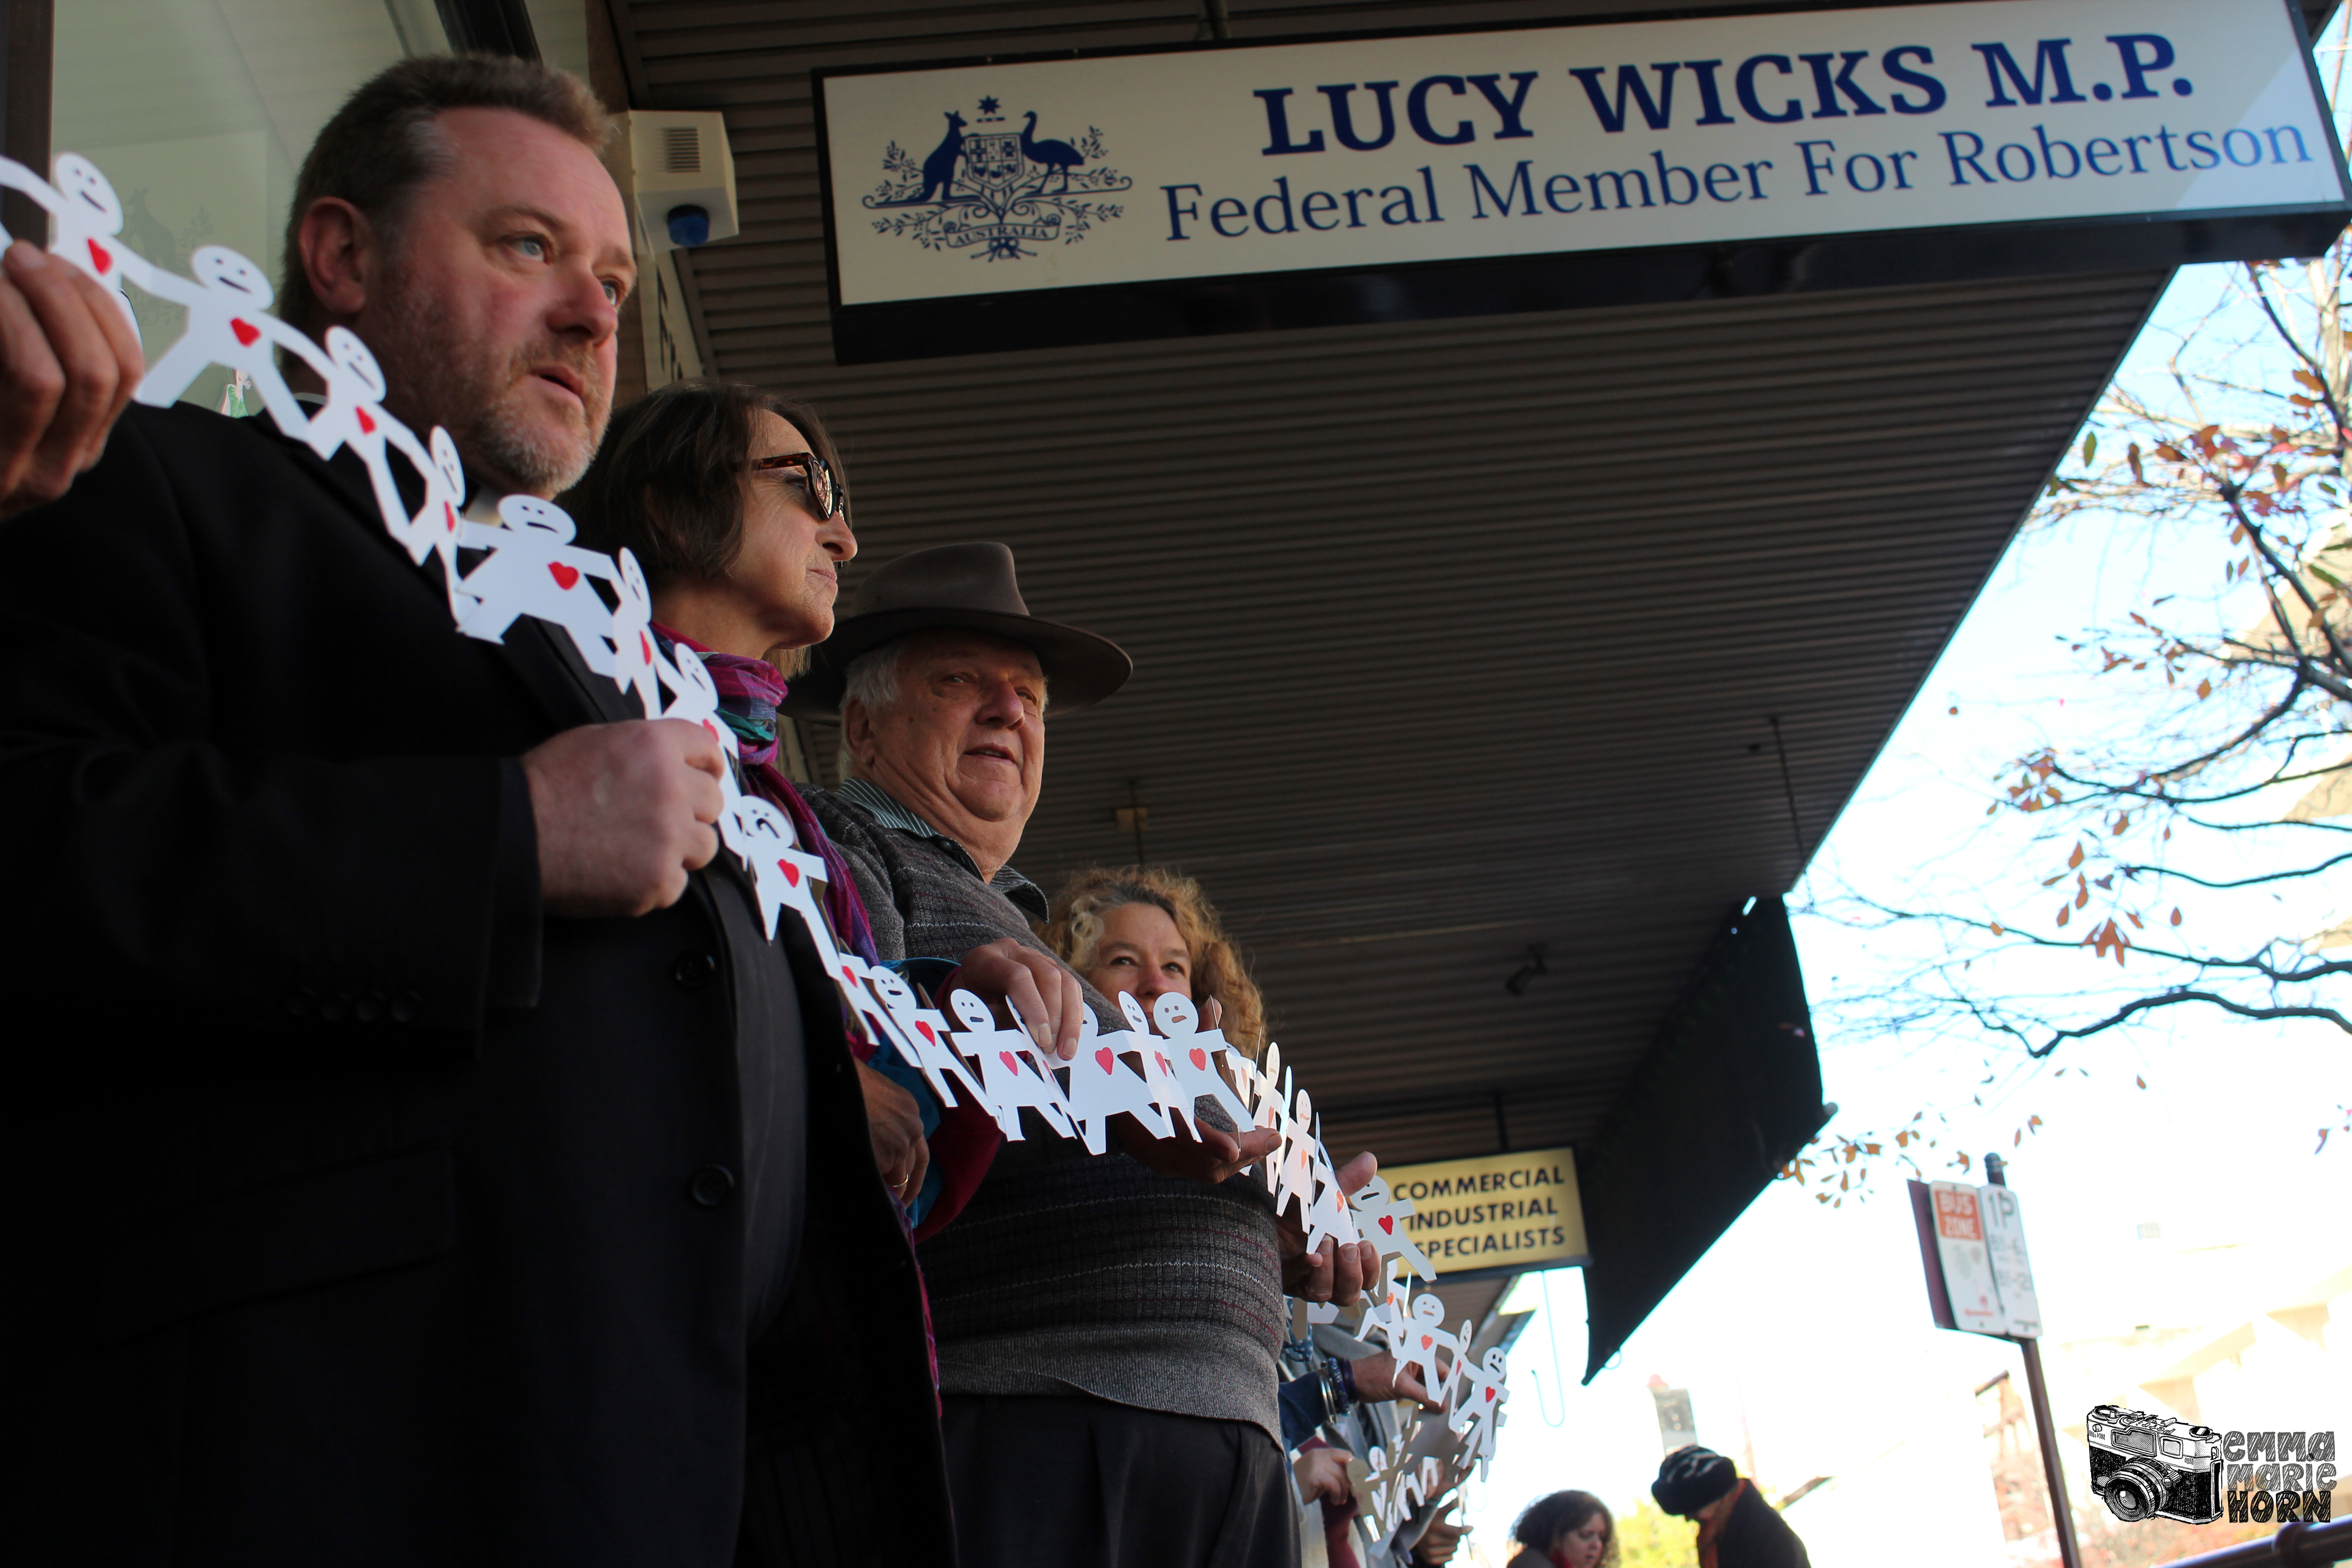
[(1028, 614), (1011, 548), (936, 545), (901, 555), (866, 578), (849, 614), (809, 651), (809, 670), (793, 677), (783, 712), (804, 719), (840, 717), (842, 686), (858, 654), (908, 632), (934, 630), (988, 632), (1030, 649), (1051, 686), (1054, 715), (1101, 703), (1136, 672), (1136, 661), (1108, 637)]

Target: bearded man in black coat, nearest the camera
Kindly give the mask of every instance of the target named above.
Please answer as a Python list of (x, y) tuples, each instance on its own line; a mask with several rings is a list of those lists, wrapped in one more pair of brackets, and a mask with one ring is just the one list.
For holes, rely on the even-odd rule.
[[(289, 317), (487, 496), (604, 428), (602, 134), (407, 61), (303, 165)], [(0, 524), (26, 1561), (953, 1561), (842, 1009), (722, 766), (539, 621), (456, 635), (263, 421), (134, 407)], [(746, 1443), (828, 1512), (746, 1519)]]

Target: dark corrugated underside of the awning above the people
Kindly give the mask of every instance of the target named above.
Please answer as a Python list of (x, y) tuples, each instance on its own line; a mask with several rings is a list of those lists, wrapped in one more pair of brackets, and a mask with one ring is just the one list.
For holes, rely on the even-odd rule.
[[(1232, 35), (1576, 9), (1235, 5)], [(616, 12), (642, 103), (727, 110), (708, 362), (826, 411), (866, 559), (1002, 538), (1033, 609), (1136, 654), (1051, 726), (1018, 863), (1131, 860), (1134, 790), (1148, 853), (1256, 952), (1336, 1152), (1482, 1152), (1498, 1098), (1512, 1145), (1595, 1131), (1715, 922), (1797, 877), (2164, 282), (837, 369), (809, 68), (1181, 42), (1200, 9)], [(1552, 973), (1510, 997), (1529, 943)]]

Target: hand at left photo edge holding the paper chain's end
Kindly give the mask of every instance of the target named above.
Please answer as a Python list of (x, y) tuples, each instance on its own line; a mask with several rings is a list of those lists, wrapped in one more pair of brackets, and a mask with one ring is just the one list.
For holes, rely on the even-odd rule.
[(122, 308), (31, 240), (0, 263), (0, 517), (56, 501), (106, 451), (146, 357)]

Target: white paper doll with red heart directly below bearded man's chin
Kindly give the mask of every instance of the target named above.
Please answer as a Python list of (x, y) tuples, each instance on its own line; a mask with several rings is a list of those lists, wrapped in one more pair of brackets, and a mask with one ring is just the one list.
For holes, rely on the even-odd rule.
[[(595, 581), (609, 583), (619, 576), (612, 557), (576, 548), (572, 517), (553, 501), (506, 496), (499, 501), (499, 517), (506, 527), (468, 522), (459, 529), (459, 543), (468, 550), (489, 550), (489, 559), (459, 583), (475, 599), (475, 607), (463, 611), (456, 630), (482, 642), (506, 642), (506, 630), (515, 625), (517, 616), (553, 621), (572, 632), (572, 646), (581, 651), (581, 661), (590, 670), (612, 675), (612, 644), (604, 642), (612, 630), (612, 607), (595, 590)], [(691, 649), (677, 649), (677, 656), (694, 663), (694, 675), (680, 670), (680, 679), (694, 686), (694, 712), (666, 717), (691, 717), (710, 729), (710, 717), (717, 715), (720, 705), (717, 689), (710, 686), (710, 675)], [(696, 684), (694, 677), (701, 682)], [(706, 693), (708, 703), (701, 701)], [(720, 724), (713, 733), (731, 745), (724, 729)]]

